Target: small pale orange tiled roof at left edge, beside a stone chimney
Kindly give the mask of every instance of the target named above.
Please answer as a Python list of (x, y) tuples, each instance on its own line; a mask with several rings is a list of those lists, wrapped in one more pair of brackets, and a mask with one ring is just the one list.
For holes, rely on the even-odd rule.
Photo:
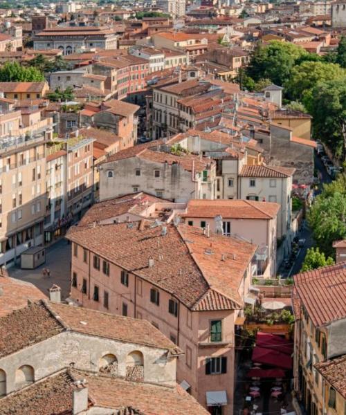
[(3, 275), (0, 275), (0, 290), (0, 317), (26, 306), (28, 300), (46, 298), (46, 295), (30, 282)]

